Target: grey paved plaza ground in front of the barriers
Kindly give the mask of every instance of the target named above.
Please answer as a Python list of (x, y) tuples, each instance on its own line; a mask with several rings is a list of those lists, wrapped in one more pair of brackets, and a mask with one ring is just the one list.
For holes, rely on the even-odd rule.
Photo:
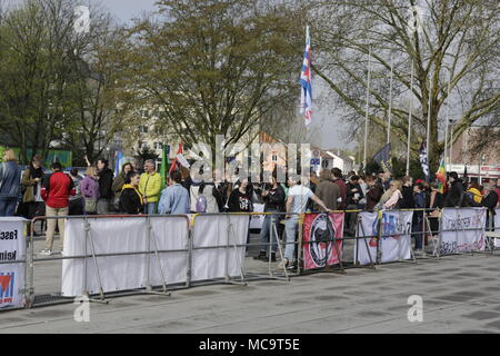
[[(37, 293), (58, 291), (60, 261), (36, 268)], [(267, 270), (247, 258), (248, 269)], [(421, 296), (423, 322), (408, 320)], [(209, 285), (171, 296), (136, 295), (90, 304), (90, 322), (62, 304), (0, 313), (0, 333), (500, 333), (500, 256), (418, 259), (344, 275), (320, 273), (247, 286)]]

